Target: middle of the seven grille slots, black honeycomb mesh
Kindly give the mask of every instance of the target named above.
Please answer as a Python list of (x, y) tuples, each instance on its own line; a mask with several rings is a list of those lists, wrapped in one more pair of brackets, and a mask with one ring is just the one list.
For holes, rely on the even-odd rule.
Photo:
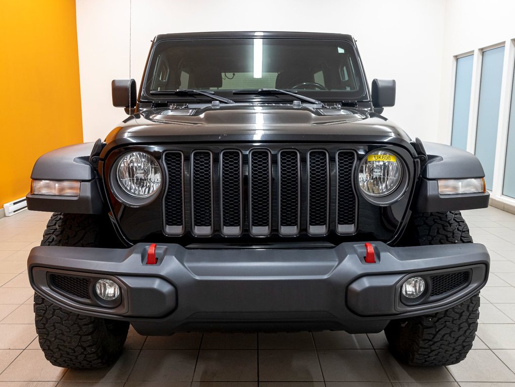
[(266, 236), (271, 232), (272, 165), (270, 151), (249, 152), (250, 233)]

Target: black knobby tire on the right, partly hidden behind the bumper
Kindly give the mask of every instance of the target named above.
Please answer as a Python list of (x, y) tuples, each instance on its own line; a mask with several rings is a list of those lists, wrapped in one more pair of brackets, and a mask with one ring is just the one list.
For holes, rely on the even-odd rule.
[[(472, 243), (459, 211), (413, 214), (403, 245)], [(409, 365), (451, 365), (464, 360), (476, 336), (479, 294), (436, 314), (392, 320), (385, 328), (390, 351)]]

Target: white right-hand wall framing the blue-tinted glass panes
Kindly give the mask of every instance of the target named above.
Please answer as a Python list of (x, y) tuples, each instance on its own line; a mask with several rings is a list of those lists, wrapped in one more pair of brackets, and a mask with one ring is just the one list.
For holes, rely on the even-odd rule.
[(467, 150), (474, 152), (482, 50), (504, 47), (499, 122), (492, 122), (497, 133), (491, 198), (515, 205), (515, 199), (502, 195), (507, 129), (510, 114), (513, 64), (515, 62), (515, 2), (511, 0), (448, 0), (445, 9), (445, 40), (442, 45), (441, 98), (439, 103), (439, 139), (450, 143), (454, 97), (455, 56), (474, 54)]

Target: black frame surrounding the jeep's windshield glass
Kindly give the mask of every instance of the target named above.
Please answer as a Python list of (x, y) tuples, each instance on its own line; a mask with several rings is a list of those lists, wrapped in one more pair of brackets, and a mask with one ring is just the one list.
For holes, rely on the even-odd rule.
[[(363, 93), (358, 96), (353, 96), (352, 98), (345, 98), (345, 91), (344, 90), (328, 90), (327, 92), (317, 90), (315, 93), (312, 93), (314, 90), (307, 90), (307, 89), (285, 89), (287, 91), (293, 91), (293, 93), (299, 92), (303, 96), (319, 100), (320, 102), (370, 102), (370, 91), (369, 86), (367, 82), (367, 78), (365, 75), (365, 72), (363, 70), (363, 63), (361, 60), (361, 57), (359, 56), (359, 52), (357, 50), (357, 47), (355, 46), (354, 42), (352, 42), (349, 39), (331, 39), (327, 37), (323, 38), (304, 38), (302, 36), (290, 36), (290, 37), (276, 37), (276, 36), (231, 36), (231, 38), (193, 38), (193, 39), (185, 39), (185, 38), (176, 38), (176, 39), (162, 39), (155, 41), (149, 51), (147, 62), (145, 64), (145, 71), (144, 71), (144, 77), (143, 82), (140, 85), (140, 91), (139, 91), (139, 102), (150, 102), (150, 103), (163, 103), (163, 102), (171, 102), (171, 103), (187, 103), (187, 102), (205, 102), (208, 101), (208, 97), (204, 97), (202, 95), (152, 95), (151, 93), (151, 82), (149, 80), (150, 78), (153, 78), (153, 72), (150, 73), (151, 69), (155, 67), (157, 62), (158, 54), (156, 53), (157, 49), (159, 48), (159, 45), (162, 43), (169, 44), (170, 42), (174, 41), (199, 41), (199, 40), (229, 40), (229, 39), (237, 39), (237, 40), (254, 40), (254, 39), (269, 39), (269, 40), (305, 40), (305, 41), (340, 41), (345, 42), (349, 48), (353, 50), (354, 57), (356, 59), (357, 68), (355, 69), (356, 77), (359, 78), (359, 81), (362, 83), (362, 87), (360, 89), (363, 90)], [(202, 91), (210, 91), (214, 92), (219, 97), (229, 98), (236, 103), (238, 102), (266, 102), (266, 103), (288, 103), (293, 100), (296, 100), (293, 96), (288, 96), (285, 94), (269, 94), (269, 95), (261, 95), (261, 94), (233, 94), (234, 90), (229, 89), (201, 89)], [(237, 89), (235, 89), (237, 90)], [(360, 90), (361, 91), (361, 90)], [(323, 93), (323, 95), (321, 94)], [(359, 92), (358, 92), (359, 94)], [(304, 102), (305, 103), (305, 102)]]

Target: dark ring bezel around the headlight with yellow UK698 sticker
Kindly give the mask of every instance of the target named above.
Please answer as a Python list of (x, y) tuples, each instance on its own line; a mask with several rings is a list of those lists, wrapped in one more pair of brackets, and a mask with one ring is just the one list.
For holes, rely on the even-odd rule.
[[(389, 153), (389, 154), (395, 156), (396, 161), (400, 164), (400, 171), (401, 171), (401, 178), (400, 178), (400, 181), (399, 181), (397, 187), (394, 188), (391, 192), (381, 195), (381, 196), (369, 194), (368, 192), (364, 191), (361, 188), (361, 185), (359, 183), (359, 172), (361, 171), (363, 164), (365, 162), (367, 162), (368, 156), (377, 154), (379, 152), (386, 152), (386, 153)], [(372, 204), (374, 204), (376, 206), (383, 207), (383, 206), (389, 206), (389, 205), (393, 204), (394, 202), (400, 200), (404, 196), (406, 190), (408, 189), (409, 180), (410, 180), (410, 176), (409, 176), (410, 169), (408, 168), (408, 165), (404, 161), (404, 158), (400, 155), (400, 152), (397, 152), (397, 150), (392, 151), (389, 148), (377, 148), (377, 149), (367, 152), (365, 155), (363, 155), (361, 160), (359, 160), (358, 169), (356, 172), (357, 173), (355, 175), (355, 178), (356, 178), (357, 191), (359, 192), (359, 194), (361, 194), (361, 196), (363, 198), (365, 198), (367, 201), (371, 202)]]

